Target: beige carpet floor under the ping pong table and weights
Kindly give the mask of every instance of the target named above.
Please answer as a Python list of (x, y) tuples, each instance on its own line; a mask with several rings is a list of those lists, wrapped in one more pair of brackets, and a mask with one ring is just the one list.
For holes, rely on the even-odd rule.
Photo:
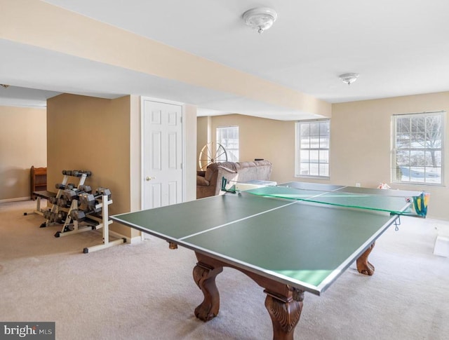
[[(98, 231), (55, 238), (0, 203), (0, 321), (53, 321), (56, 339), (272, 339), (262, 289), (239, 271), (217, 276), (220, 313), (195, 318), (194, 252), (150, 238), (83, 254)], [(379, 240), (374, 276), (351, 266), (321, 297), (306, 293), (295, 339), (449, 339), (449, 259), (432, 254), (438, 220), (402, 217)]]

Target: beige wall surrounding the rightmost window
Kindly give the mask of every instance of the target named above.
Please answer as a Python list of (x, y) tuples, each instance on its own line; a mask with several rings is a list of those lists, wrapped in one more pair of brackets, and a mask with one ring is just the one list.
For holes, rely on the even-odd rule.
[[(330, 122), (330, 178), (336, 184), (375, 187), (387, 182), (394, 189), (431, 193), (429, 217), (449, 219), (447, 186), (391, 184), (391, 115), (449, 111), (449, 93), (432, 93), (333, 104)], [(449, 132), (446, 123), (446, 135)], [(449, 144), (445, 140), (446, 184), (449, 181)]]

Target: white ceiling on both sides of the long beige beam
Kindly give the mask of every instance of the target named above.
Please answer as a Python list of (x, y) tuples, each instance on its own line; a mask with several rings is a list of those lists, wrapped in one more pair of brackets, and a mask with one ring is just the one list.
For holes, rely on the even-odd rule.
[[(234, 67), (327, 102), (449, 90), (447, 0), (46, 0), (169, 46)], [(246, 27), (244, 11), (278, 13), (262, 34)], [(66, 92), (98, 97), (134, 94), (199, 106), (210, 112), (280, 119), (297, 112), (131, 72), (79, 57), (0, 40), (0, 104), (6, 91), (27, 104)], [(32, 56), (30, 62), (29, 56)], [(339, 74), (357, 72), (347, 86)]]

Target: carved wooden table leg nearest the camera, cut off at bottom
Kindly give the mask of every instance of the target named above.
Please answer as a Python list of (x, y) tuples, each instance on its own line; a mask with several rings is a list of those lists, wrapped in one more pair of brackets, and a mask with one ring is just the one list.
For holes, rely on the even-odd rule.
[(265, 307), (273, 322), (273, 339), (293, 340), (293, 332), (301, 316), (304, 292), (293, 289), (287, 297), (272, 294), (268, 290), (264, 292), (267, 293)]

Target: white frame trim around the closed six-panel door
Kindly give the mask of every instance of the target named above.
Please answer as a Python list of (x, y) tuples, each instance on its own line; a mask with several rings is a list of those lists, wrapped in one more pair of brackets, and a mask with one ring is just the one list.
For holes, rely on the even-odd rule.
[[(182, 190), (182, 194), (181, 194), (181, 201), (185, 202), (185, 197), (186, 197), (186, 171), (185, 171), (185, 154), (186, 154), (186, 149), (185, 149), (185, 103), (182, 102), (175, 102), (173, 100), (163, 100), (160, 98), (154, 98), (154, 97), (140, 97), (140, 209), (142, 210), (144, 208), (144, 184), (145, 184), (145, 172), (144, 172), (144, 128), (145, 128), (145, 124), (144, 124), (144, 109), (145, 109), (145, 101), (149, 101), (149, 102), (159, 102), (162, 104), (173, 104), (173, 105), (179, 105), (181, 107), (181, 119), (182, 119), (182, 175), (181, 175), (181, 180), (182, 180), (182, 184), (181, 184), (181, 190)], [(143, 233), (142, 233), (142, 237), (143, 237)]]

